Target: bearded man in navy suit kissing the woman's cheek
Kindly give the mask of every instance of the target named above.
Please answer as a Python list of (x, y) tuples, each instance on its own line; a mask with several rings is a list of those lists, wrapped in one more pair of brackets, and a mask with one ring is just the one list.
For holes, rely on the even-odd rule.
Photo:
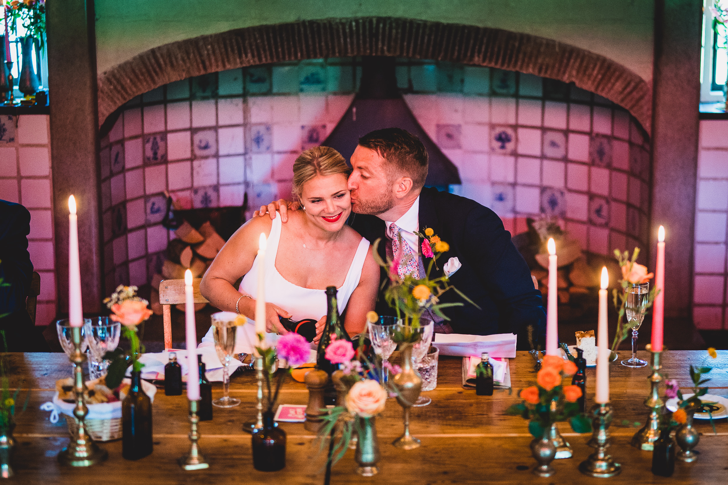
[[(397, 251), (397, 234), (403, 239), (404, 254), (418, 254), (424, 233), (434, 234), (449, 244), (433, 267), (431, 278), (447, 272), (450, 283), (467, 295), (476, 308), (456, 292), (446, 292), (440, 302), (463, 302), (446, 310), (450, 321), (439, 322), (436, 331), (459, 334), (518, 334), (518, 348), (530, 349), (543, 342), (546, 315), (541, 293), (534, 289), (526, 261), (510, 241), (500, 218), (475, 201), (424, 187), (427, 151), (419, 139), (399, 128), (379, 129), (359, 139), (352, 159), (349, 191), (352, 217), (349, 225), (372, 243), (381, 238), (379, 252)], [(280, 210), (287, 220), (285, 201), (261, 207), (273, 214)], [(297, 205), (290, 207), (296, 209)], [(416, 268), (424, 276), (429, 258), (419, 258)], [(408, 272), (414, 271), (408, 268)], [(388, 281), (384, 269), (381, 281)], [(380, 315), (392, 315), (380, 292), (376, 304)]]

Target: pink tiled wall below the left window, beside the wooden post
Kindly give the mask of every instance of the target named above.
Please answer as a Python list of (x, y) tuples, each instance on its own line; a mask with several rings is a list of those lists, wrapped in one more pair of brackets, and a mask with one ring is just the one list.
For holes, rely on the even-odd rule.
[(28, 251), (41, 276), (36, 324), (55, 318), (55, 244), (47, 115), (0, 116), (0, 199), (31, 213)]

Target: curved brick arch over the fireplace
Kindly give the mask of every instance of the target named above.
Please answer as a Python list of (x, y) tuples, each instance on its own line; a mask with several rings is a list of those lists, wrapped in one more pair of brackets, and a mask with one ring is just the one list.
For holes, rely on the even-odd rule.
[(154, 47), (98, 76), (99, 121), (132, 97), (191, 76), (360, 55), (447, 60), (574, 82), (626, 108), (650, 132), (649, 85), (607, 57), (528, 33), (392, 17), (259, 25)]

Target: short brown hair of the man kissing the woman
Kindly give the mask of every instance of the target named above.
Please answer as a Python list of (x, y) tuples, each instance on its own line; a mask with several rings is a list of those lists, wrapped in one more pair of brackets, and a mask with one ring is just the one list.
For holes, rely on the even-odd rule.
[(412, 188), (424, 186), (427, 178), (427, 150), (418, 137), (401, 128), (377, 129), (359, 139), (359, 145), (376, 151), (394, 170), (388, 175), (407, 175)]

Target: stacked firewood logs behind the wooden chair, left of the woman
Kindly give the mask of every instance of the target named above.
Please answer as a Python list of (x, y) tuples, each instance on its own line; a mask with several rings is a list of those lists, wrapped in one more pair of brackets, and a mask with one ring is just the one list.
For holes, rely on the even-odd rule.
[[(210, 221), (198, 229), (185, 221), (175, 231), (175, 235), (176, 239), (167, 244), (162, 274), (154, 274), (151, 280), (151, 310), (156, 315), (162, 315), (162, 305), (159, 304), (159, 283), (165, 279), (183, 279), (187, 269), (192, 272), (193, 278), (201, 278), (225, 244), (225, 240), (215, 231)], [(205, 305), (207, 303), (196, 303), (194, 310), (202, 310)], [(175, 306), (178, 310), (184, 311), (183, 304)]]

